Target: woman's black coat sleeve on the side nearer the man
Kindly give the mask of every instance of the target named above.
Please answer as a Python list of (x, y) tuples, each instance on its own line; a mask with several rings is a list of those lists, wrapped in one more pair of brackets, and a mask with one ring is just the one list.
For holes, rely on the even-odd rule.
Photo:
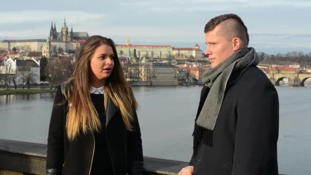
[(140, 126), (136, 110), (132, 115), (132, 131), (127, 130), (127, 156), (130, 158), (130, 175), (142, 175), (144, 173), (144, 158)]

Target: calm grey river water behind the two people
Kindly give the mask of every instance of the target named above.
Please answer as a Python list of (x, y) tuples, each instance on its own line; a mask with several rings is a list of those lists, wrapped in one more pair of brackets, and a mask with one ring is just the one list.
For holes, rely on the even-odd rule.
[[(144, 155), (189, 161), (201, 86), (135, 87)], [(310, 174), (311, 86), (277, 86), (279, 172)], [(47, 143), (55, 93), (0, 96), (0, 138)]]

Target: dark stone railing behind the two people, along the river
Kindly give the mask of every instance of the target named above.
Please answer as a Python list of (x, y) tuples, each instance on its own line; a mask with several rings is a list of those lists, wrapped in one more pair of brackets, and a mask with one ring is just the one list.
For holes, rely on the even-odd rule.
[[(45, 174), (47, 145), (0, 139), (0, 174)], [(144, 157), (146, 175), (176, 175), (187, 162)]]

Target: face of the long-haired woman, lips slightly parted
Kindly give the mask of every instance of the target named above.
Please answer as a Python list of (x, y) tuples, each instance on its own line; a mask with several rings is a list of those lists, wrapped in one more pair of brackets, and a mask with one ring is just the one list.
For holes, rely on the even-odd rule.
[(104, 82), (114, 69), (114, 51), (109, 45), (100, 45), (91, 58), (92, 82)]

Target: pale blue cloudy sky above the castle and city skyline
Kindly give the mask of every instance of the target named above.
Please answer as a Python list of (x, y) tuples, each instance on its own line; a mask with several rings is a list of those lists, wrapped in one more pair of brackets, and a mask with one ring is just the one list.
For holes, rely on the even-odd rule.
[(172, 45), (205, 50), (204, 26), (213, 17), (235, 13), (250, 35), (249, 47), (269, 54), (311, 52), (308, 0), (52, 0), (4, 1), (0, 40), (45, 39), (51, 23), (59, 32), (64, 18), (74, 32), (102, 35), (124, 44)]

